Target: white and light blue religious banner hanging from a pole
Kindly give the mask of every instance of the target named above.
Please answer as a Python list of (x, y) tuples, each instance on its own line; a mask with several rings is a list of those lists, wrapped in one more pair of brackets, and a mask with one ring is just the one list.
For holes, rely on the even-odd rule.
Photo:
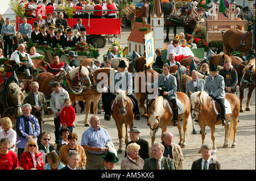
[(149, 32), (144, 36), (144, 47), (145, 47), (145, 58), (146, 58), (146, 66), (149, 66), (154, 63), (155, 60), (155, 45), (154, 45), (154, 32)]

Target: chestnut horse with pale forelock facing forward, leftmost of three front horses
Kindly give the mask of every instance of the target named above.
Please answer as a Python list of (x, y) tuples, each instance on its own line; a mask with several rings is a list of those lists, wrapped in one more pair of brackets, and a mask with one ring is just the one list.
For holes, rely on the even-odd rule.
[[(128, 90), (125, 92), (123, 90), (115, 91), (117, 96), (115, 98), (115, 102), (113, 103), (113, 111), (112, 117), (115, 120), (115, 125), (118, 130), (118, 138), (119, 138), (119, 148), (118, 153), (122, 153), (122, 142), (123, 142), (123, 124), (125, 124), (125, 144), (129, 142), (127, 127), (129, 125), (130, 129), (133, 128), (133, 103), (132, 100), (126, 96), (128, 94)], [(134, 105), (135, 106), (135, 105)]]

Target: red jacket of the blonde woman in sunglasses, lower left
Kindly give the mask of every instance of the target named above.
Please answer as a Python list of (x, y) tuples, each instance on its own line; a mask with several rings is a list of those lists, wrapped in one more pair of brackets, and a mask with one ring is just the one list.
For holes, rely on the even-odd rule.
[[(36, 166), (36, 169), (44, 170), (43, 154), (38, 151), (38, 153), (35, 154), (35, 157), (36, 157), (36, 163), (38, 163), (38, 165)], [(38, 159), (39, 159), (39, 162), (38, 162)], [(32, 155), (29, 151), (28, 151), (28, 153), (27, 152), (22, 153), (22, 155), (20, 157), (20, 166), (24, 170), (30, 170), (30, 169), (34, 168), (34, 162), (32, 159)]]

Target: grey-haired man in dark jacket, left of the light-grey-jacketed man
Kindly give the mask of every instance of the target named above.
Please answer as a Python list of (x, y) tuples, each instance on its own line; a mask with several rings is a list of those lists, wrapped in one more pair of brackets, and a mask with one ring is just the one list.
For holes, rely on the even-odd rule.
[(32, 82), (32, 91), (28, 93), (23, 103), (29, 103), (32, 106), (32, 115), (38, 119), (40, 125), (40, 132), (43, 133), (43, 119), (44, 119), (44, 109), (47, 107), (46, 98), (44, 98), (44, 93), (39, 92), (38, 82)]

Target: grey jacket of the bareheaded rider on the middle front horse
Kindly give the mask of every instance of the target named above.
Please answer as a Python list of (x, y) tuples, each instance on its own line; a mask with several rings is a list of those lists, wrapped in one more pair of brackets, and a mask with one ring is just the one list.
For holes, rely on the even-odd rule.
[(166, 86), (168, 89), (168, 100), (177, 99), (177, 81), (174, 75), (169, 75), (169, 78), (164, 81), (164, 74), (160, 74), (158, 80), (154, 83), (150, 83), (149, 86), (159, 87)]

